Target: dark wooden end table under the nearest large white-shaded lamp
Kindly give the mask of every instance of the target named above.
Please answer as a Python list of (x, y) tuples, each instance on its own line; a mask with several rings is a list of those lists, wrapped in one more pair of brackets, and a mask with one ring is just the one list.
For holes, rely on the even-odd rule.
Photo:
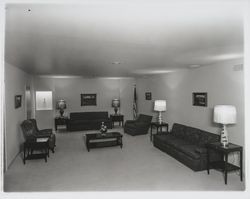
[[(215, 151), (222, 156), (222, 161), (210, 161), (210, 152)], [(228, 155), (233, 152), (240, 153), (240, 166), (228, 163)], [(207, 173), (209, 174), (209, 169), (214, 168), (224, 172), (225, 184), (227, 184), (227, 173), (230, 171), (240, 171), (240, 180), (242, 181), (242, 157), (243, 157), (243, 148), (236, 144), (229, 143), (227, 147), (221, 146), (220, 142), (208, 143), (207, 144)]]

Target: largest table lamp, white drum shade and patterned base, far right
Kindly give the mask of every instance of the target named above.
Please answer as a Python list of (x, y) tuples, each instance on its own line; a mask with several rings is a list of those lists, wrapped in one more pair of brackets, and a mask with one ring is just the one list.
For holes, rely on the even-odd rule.
[(214, 122), (222, 124), (221, 145), (228, 146), (227, 124), (236, 123), (236, 108), (231, 105), (216, 105), (214, 107)]

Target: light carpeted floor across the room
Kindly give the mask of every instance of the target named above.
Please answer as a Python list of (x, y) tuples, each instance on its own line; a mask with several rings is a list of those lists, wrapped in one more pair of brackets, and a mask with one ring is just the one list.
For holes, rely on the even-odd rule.
[[(121, 128), (115, 129), (122, 132)], [(93, 131), (90, 131), (93, 132)], [(123, 148), (87, 152), (83, 132), (57, 133), (57, 147), (48, 162), (18, 156), (4, 177), (6, 192), (49, 191), (179, 191), (244, 190), (238, 173), (193, 172), (153, 147), (149, 135), (123, 134)]]

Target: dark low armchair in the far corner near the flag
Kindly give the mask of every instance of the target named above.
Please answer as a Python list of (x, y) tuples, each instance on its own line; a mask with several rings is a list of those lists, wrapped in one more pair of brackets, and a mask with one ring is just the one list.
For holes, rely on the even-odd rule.
[(124, 132), (129, 135), (147, 134), (152, 116), (140, 114), (136, 120), (127, 120), (124, 125)]

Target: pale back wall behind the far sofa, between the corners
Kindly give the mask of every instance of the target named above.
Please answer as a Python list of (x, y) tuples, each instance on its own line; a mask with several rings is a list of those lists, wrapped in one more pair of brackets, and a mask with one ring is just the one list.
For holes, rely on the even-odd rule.
[[(120, 112), (125, 120), (132, 119), (133, 85), (134, 78), (34, 78), (36, 91), (53, 92), (53, 111), (36, 111), (39, 128), (52, 128), (54, 117), (59, 115), (55, 110), (56, 101), (64, 99), (67, 102), (65, 115), (70, 112), (82, 111), (108, 111), (114, 113), (111, 107), (113, 98), (121, 99)], [(80, 95), (83, 93), (96, 93), (97, 106), (81, 106)]]

